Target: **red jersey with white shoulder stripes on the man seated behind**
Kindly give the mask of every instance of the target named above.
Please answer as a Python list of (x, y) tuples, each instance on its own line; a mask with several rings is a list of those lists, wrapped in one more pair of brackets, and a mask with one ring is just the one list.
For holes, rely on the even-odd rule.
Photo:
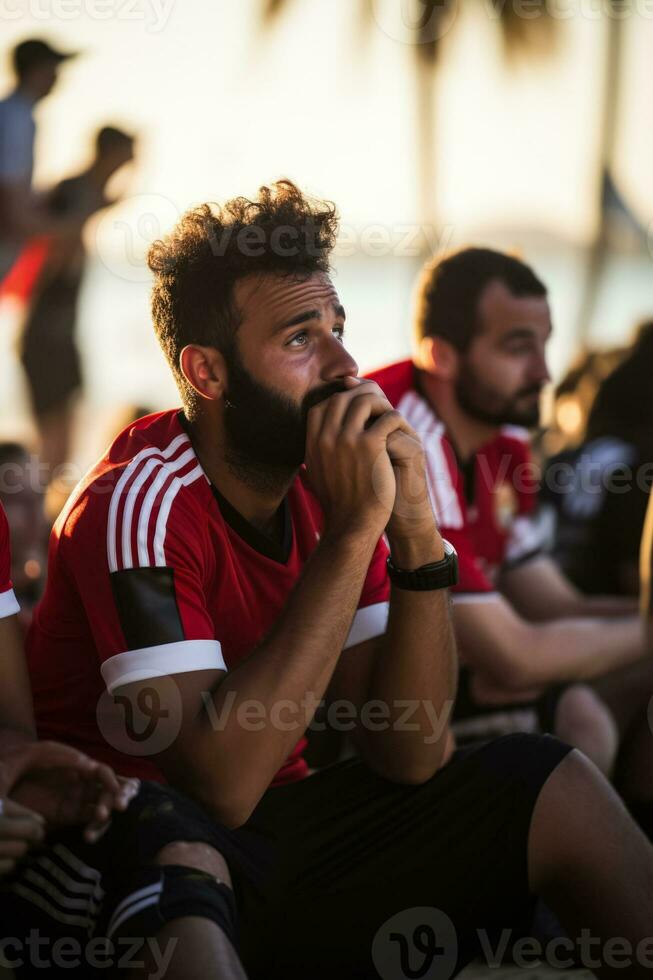
[(462, 465), (443, 423), (416, 389), (412, 361), (368, 375), (420, 435), (440, 530), (458, 552), (454, 596), (495, 591), (498, 569), (534, 557), (543, 534), (534, 522), (537, 479), (525, 430), (508, 426)]

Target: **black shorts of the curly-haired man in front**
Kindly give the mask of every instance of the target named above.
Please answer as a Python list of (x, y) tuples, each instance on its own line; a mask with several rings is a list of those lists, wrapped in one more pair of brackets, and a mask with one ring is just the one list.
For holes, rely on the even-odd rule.
[[(170, 787), (144, 784), (98, 844), (69, 835), (67, 874), (74, 861), (87, 876), (97, 869), (108, 896), (97, 901), (93, 929), (101, 935), (112, 891), (130, 868), (166, 843), (204, 841), (229, 865), (251, 980), (387, 976), (392, 957), (417, 955), (407, 952), (416, 936), (448, 978), (477, 954), (483, 936), (527, 928), (533, 808), (569, 751), (548, 736), (513, 735), (458, 750), (419, 786), (388, 782), (348, 760), (268, 790), (237, 830), (213, 823)], [(20, 884), (13, 883), (12, 926), (25, 932), (45, 912), (25, 898), (24, 875), (22, 895)], [(52, 928), (61, 934), (64, 926)]]

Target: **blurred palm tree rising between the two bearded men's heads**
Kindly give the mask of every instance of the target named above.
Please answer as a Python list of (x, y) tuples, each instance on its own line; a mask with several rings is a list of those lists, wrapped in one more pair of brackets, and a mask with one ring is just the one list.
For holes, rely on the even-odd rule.
[[(436, 187), (436, 104), (437, 68), (443, 45), (450, 37), (447, 25), (462, 0), (396, 0), (401, 4), (404, 23), (415, 39), (415, 102), (417, 105), (417, 187), (420, 214), (433, 221), (437, 215)], [(466, 0), (469, 2), (469, 0)], [(519, 54), (548, 53), (554, 40), (556, 21), (549, 16), (549, 0), (529, 0), (528, 17), (522, 16), (520, 0), (477, 0), (489, 3), (492, 20), (501, 31), (508, 62)], [(292, 0), (261, 0), (264, 27), (270, 27)], [(374, 23), (374, 0), (359, 0), (363, 21)], [(486, 8), (487, 9), (487, 8)]]

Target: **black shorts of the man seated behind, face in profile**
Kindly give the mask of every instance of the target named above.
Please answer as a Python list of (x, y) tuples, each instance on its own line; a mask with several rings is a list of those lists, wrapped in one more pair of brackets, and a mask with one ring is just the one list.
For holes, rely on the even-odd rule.
[(565, 685), (552, 685), (534, 701), (481, 704), (471, 690), (471, 671), (461, 667), (452, 728), (458, 745), (487, 741), (513, 732), (555, 734), (558, 702)]

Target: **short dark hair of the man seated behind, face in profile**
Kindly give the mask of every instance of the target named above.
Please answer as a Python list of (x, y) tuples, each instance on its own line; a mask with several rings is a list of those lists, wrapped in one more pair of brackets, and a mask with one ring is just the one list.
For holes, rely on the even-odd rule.
[(490, 248), (464, 248), (429, 263), (417, 287), (418, 340), (443, 337), (465, 351), (480, 326), (481, 294), (495, 280), (502, 282), (513, 296), (546, 296), (546, 287), (530, 266)]

